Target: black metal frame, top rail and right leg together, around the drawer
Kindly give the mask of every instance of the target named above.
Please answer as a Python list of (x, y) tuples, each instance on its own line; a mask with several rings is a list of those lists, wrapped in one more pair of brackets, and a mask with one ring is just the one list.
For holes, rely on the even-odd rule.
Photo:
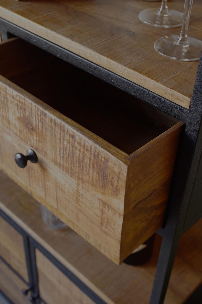
[[(202, 55), (199, 61), (190, 108), (185, 109), (132, 81), (114, 74), (85, 58), (1, 18), (0, 27), (2, 30), (2, 39), (7, 39), (12, 35), (18, 36), (109, 84), (122, 89), (136, 98), (146, 101), (185, 123), (185, 132), (170, 192), (166, 223), (163, 228), (157, 231), (157, 233), (163, 237), (163, 241), (150, 304), (162, 304), (164, 302), (180, 237), (202, 217), (202, 208), (198, 208), (195, 199), (196, 196), (194, 196), (194, 193), (197, 193), (200, 189), (200, 183), (195, 183), (195, 178), (197, 172), (201, 172), (202, 170), (202, 161), (200, 162), (202, 150)], [(46, 252), (46, 254), (48, 253)], [(61, 265), (58, 266), (61, 268)]]

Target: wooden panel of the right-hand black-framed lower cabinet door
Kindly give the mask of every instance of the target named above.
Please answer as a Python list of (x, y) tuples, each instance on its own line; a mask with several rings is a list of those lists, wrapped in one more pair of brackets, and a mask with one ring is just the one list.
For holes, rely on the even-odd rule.
[(39, 295), (48, 304), (93, 304), (52, 262), (36, 249)]

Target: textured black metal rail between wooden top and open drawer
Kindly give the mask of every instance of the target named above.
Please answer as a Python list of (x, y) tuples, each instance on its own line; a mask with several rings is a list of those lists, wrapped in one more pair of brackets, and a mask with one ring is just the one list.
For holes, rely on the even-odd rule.
[(2, 18), (0, 18), (0, 27), (2, 35), (5, 37), (5, 39), (11, 36), (22, 38), (23, 40), (40, 47), (50, 54), (53, 54), (76, 67), (79, 67), (93, 76), (96, 76), (97, 78), (106, 81), (116, 88), (119, 88), (124, 92), (155, 106), (156, 108), (183, 122), (185, 122), (187, 119), (187, 113), (189, 111), (188, 109), (185, 109), (182, 106), (177, 105), (174, 102), (171, 102), (170, 100), (163, 98), (156, 93), (153, 93), (150, 90), (107, 70), (106, 68), (103, 68)]

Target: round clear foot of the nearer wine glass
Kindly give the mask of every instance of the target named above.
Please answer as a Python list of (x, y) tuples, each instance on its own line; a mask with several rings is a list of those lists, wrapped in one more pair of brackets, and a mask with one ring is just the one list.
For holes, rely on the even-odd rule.
[(183, 47), (176, 44), (177, 39), (177, 35), (162, 37), (154, 43), (154, 48), (160, 55), (174, 60), (194, 61), (200, 59), (201, 40), (188, 37), (189, 45)]

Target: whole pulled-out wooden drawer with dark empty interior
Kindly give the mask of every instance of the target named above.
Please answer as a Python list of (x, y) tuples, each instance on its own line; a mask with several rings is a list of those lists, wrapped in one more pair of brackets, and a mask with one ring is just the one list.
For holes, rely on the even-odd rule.
[(0, 168), (120, 264), (162, 225), (183, 123), (16, 38), (0, 74)]

